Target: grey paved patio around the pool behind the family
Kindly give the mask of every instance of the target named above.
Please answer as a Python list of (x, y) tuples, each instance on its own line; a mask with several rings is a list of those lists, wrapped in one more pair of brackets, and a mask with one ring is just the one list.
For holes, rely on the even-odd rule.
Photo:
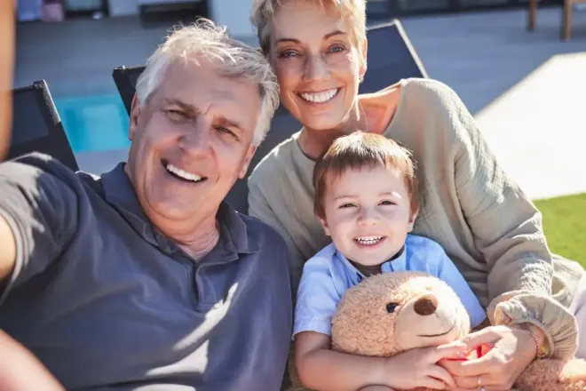
[[(401, 21), (430, 76), (458, 92), (527, 195), (586, 192), (586, 12), (574, 12), (569, 43), (558, 38), (559, 9), (540, 10), (535, 33), (526, 13)], [(137, 18), (20, 25), (16, 85), (44, 78), (57, 98), (116, 93), (112, 68), (143, 64), (168, 28)], [(82, 169), (102, 172), (125, 154), (77, 157)]]

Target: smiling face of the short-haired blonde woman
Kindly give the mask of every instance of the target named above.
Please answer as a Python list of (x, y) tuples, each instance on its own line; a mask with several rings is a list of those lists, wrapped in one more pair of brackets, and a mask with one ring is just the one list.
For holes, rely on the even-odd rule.
[(333, 129), (344, 122), (364, 74), (366, 44), (355, 44), (336, 9), (289, 1), (273, 19), (271, 62), (281, 102), (306, 128)]

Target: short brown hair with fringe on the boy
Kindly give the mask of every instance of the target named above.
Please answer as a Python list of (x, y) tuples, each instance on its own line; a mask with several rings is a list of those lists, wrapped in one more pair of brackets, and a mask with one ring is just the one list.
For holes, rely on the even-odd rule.
[(405, 181), (411, 214), (419, 211), (416, 164), (411, 160), (411, 152), (381, 134), (358, 131), (335, 140), (320, 156), (313, 168), (313, 188), (315, 188), (313, 211), (317, 217), (325, 219), (323, 199), (328, 182), (342, 175), (346, 170), (358, 170), (364, 167), (398, 170)]

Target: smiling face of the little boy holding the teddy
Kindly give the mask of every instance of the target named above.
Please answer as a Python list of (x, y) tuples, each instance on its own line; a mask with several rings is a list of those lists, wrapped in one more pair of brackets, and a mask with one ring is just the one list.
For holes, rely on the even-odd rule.
[(391, 259), (413, 229), (416, 214), (400, 172), (384, 167), (347, 170), (329, 179), (326, 234), (347, 259), (379, 265)]

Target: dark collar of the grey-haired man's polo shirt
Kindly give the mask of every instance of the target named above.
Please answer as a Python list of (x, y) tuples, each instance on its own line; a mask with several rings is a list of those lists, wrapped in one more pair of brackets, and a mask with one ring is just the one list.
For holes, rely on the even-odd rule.
[[(114, 170), (102, 174), (101, 179), (107, 203), (120, 211), (123, 217), (147, 242), (156, 245), (165, 252), (180, 251), (178, 246), (162, 235), (161, 231), (154, 227), (147, 218), (142, 206), (140, 206), (131, 180), (124, 172), (124, 163), (117, 164)], [(234, 258), (230, 253), (245, 254), (259, 250), (240, 213), (226, 202), (220, 203), (218, 219), (220, 243), (223, 244), (224, 249), (223, 255), (226, 255), (227, 258)], [(225, 257), (223, 256), (222, 258), (224, 259)]]

